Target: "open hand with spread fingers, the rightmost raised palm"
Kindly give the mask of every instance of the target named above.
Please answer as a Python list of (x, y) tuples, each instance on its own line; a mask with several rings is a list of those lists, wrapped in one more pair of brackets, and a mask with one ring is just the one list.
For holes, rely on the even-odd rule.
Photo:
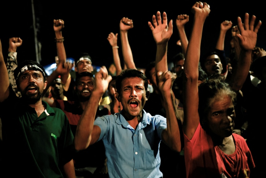
[(245, 50), (253, 50), (257, 43), (257, 33), (261, 26), (261, 21), (258, 22), (254, 28), (256, 16), (252, 15), (251, 21), (249, 22), (249, 14), (245, 13), (244, 23), (240, 17), (237, 18), (239, 34), (236, 36), (239, 38), (239, 44), (241, 48)]

